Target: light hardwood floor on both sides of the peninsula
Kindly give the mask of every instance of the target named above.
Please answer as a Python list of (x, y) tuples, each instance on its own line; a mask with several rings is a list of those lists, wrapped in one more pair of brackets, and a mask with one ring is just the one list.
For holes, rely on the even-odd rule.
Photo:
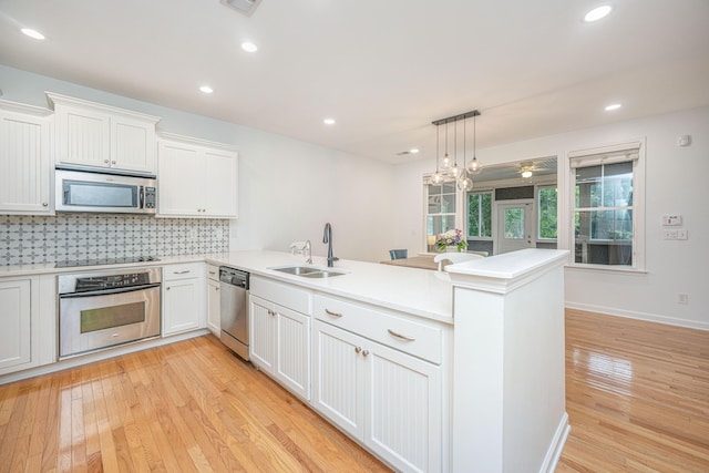
[[(709, 332), (567, 310), (558, 472), (709, 472)], [(214, 337), (0, 387), (0, 472), (384, 465)]]

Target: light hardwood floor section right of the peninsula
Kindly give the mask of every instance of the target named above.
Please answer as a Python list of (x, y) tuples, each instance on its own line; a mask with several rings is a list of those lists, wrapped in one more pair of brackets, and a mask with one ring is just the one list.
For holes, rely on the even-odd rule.
[(557, 472), (709, 472), (709, 331), (566, 310)]

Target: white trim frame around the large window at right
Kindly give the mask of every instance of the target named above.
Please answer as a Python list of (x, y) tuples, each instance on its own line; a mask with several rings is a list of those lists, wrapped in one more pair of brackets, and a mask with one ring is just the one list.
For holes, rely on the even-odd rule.
[[(568, 176), (568, 248), (572, 268), (604, 270), (609, 273), (646, 273), (645, 269), (645, 150), (646, 140), (616, 143), (587, 150), (572, 151), (567, 154), (566, 168)], [(574, 232), (574, 213), (576, 208), (576, 167), (613, 164), (633, 161), (633, 266), (595, 265), (576, 263), (574, 248), (576, 235)], [(583, 163), (583, 164), (582, 164)]]

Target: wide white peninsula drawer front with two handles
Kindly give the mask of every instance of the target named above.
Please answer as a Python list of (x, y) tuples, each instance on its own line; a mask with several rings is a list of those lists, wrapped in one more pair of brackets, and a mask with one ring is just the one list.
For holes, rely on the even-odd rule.
[(325, 322), (440, 364), (442, 331), (360, 304), (316, 295), (315, 317)]

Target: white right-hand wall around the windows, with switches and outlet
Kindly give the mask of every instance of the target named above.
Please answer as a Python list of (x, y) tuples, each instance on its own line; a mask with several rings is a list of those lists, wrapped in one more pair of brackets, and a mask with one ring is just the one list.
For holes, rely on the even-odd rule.
[[(677, 136), (691, 135), (691, 146), (677, 146)], [(709, 210), (703, 198), (709, 176), (709, 107), (616, 123), (477, 151), (482, 164), (517, 162), (557, 155), (567, 166), (569, 151), (604, 144), (646, 140), (646, 273), (618, 274), (567, 268), (566, 305), (605, 313), (709, 330)], [(433, 160), (398, 165), (394, 215), (398, 240), (422, 249), (423, 196), (421, 175)], [(559, 195), (567, 195), (568, 178), (559, 171)], [(413, 205), (411, 205), (413, 204)], [(561, 212), (559, 248), (569, 247), (569, 216)], [(662, 239), (660, 216), (681, 214), (686, 241)], [(677, 294), (689, 295), (688, 305)]]

